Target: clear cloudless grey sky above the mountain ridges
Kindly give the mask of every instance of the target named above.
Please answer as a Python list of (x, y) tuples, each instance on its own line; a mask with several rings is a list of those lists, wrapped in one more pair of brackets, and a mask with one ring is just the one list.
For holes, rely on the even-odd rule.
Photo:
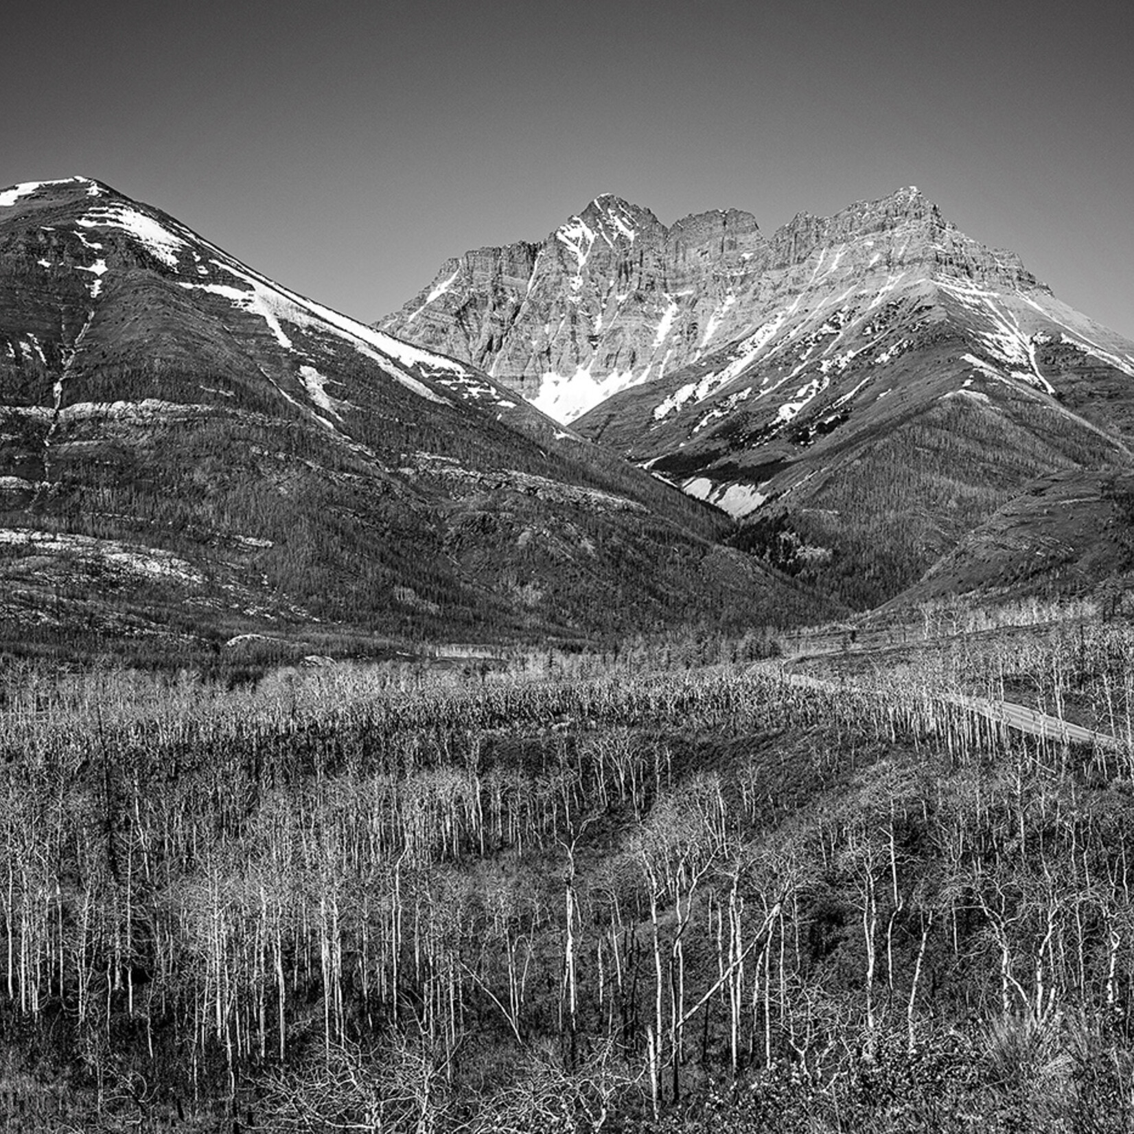
[(39, 0), (0, 184), (85, 174), (373, 320), (601, 192), (669, 223), (917, 185), (1134, 338), (1129, 0)]

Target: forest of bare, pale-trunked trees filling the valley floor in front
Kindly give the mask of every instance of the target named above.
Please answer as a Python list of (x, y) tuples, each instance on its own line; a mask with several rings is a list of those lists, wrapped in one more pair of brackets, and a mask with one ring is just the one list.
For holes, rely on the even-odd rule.
[(0, 1115), (1134, 1127), (1134, 632), (844, 668), (10, 667)]

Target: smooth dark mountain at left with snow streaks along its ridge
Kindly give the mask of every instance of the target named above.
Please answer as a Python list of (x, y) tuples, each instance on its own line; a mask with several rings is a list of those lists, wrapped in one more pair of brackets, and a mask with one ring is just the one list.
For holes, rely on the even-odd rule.
[(578, 640), (812, 604), (476, 367), (84, 177), (0, 192), (0, 437), (6, 645)]

